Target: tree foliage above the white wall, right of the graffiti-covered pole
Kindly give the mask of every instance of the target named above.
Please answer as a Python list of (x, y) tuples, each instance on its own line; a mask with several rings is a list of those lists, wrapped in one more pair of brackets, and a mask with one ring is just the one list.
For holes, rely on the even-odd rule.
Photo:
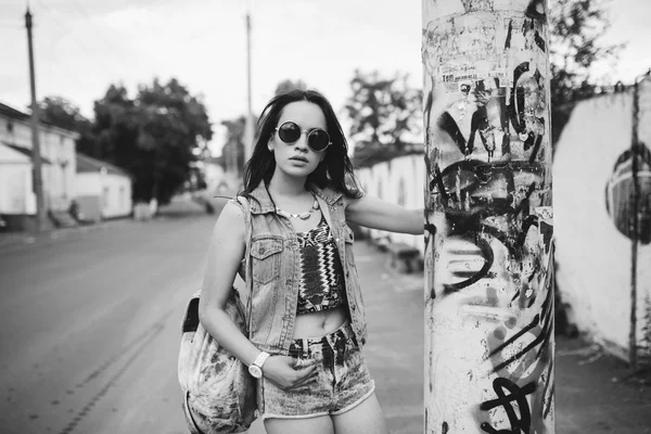
[(560, 138), (576, 102), (592, 97), (596, 61), (616, 59), (624, 44), (601, 39), (610, 28), (609, 0), (551, 0), (551, 123), (552, 142)]

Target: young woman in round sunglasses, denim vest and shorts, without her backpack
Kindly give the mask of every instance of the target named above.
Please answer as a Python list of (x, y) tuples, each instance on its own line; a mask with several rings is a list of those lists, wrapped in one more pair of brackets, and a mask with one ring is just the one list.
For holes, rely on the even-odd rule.
[[(421, 234), (423, 212), (360, 192), (341, 125), (316, 91), (273, 98), (257, 137), (246, 203), (230, 201), (215, 226), (200, 320), (259, 378), (267, 433), (386, 433), (362, 355), (365, 305), (347, 224)], [(252, 280), (248, 337), (224, 311), (243, 264)]]

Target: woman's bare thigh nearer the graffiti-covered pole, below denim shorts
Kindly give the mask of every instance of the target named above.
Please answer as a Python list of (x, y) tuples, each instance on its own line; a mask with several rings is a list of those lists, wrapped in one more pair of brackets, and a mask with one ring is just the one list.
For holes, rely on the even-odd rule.
[(375, 394), (350, 410), (332, 417), (335, 434), (388, 434)]

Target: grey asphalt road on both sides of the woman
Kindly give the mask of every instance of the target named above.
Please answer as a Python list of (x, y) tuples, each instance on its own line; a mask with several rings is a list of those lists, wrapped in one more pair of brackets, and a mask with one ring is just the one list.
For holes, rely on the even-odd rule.
[[(0, 432), (187, 433), (176, 376), (180, 321), (214, 220), (127, 221), (0, 250)], [(387, 273), (379, 258), (359, 243), (369, 366), (392, 432), (419, 433), (422, 283)]]

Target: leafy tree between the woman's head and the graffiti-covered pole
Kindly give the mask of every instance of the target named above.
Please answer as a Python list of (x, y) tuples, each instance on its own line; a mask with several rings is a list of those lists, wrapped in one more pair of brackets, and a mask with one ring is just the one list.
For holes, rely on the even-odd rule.
[(356, 154), (388, 148), (400, 151), (407, 143), (422, 140), (422, 95), (409, 86), (408, 78), (400, 73), (385, 78), (376, 71), (355, 71), (353, 94), (344, 108), (352, 122), (349, 132)]

